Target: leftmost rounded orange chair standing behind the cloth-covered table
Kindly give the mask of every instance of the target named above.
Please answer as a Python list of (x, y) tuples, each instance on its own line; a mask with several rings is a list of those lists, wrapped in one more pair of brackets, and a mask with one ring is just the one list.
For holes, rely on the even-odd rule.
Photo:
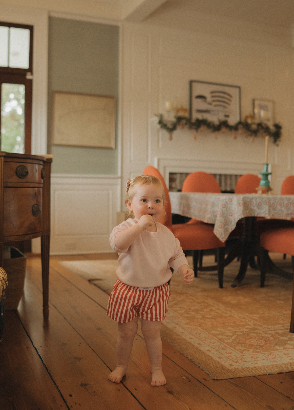
[[(182, 192), (222, 192), (217, 180), (207, 172), (192, 172), (185, 179)], [(187, 223), (202, 223), (197, 219), (191, 218)]]

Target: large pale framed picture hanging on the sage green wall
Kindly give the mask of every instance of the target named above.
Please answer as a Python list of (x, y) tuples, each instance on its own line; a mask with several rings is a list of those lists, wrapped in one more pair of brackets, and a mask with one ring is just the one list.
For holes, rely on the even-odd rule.
[(55, 91), (52, 145), (115, 148), (115, 97)]

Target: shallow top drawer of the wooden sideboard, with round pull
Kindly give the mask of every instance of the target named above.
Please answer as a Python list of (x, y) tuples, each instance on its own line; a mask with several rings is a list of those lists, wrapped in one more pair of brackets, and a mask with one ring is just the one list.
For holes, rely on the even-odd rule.
[(42, 183), (43, 165), (30, 162), (4, 162), (4, 183)]

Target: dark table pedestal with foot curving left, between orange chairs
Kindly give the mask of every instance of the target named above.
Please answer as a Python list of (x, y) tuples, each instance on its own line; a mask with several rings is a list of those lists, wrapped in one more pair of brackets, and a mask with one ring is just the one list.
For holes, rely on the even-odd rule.
[[(256, 216), (246, 216), (244, 218), (242, 234), (241, 264), (232, 287), (240, 285), (247, 271), (248, 262), (253, 265), (254, 251), (256, 246)], [(253, 266), (252, 266), (253, 267)], [(255, 262), (254, 262), (255, 267)]]

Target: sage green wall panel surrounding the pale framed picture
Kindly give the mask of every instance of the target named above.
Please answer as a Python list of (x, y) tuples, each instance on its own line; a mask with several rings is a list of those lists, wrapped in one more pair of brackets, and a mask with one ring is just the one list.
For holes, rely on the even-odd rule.
[[(53, 91), (118, 97), (119, 27), (49, 18), (48, 153), (52, 173), (118, 174), (118, 149), (51, 145)], [(117, 132), (115, 146), (117, 147)]]

